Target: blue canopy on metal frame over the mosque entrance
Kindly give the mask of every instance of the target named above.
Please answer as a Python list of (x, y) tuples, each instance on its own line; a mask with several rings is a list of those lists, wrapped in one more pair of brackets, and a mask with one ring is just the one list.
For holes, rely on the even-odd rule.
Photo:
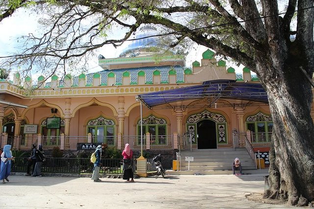
[(213, 97), (215, 100), (225, 98), (268, 103), (267, 93), (260, 83), (237, 83), (235, 80), (211, 80), (203, 82), (202, 85), (138, 95), (138, 98), (149, 108), (204, 97)]

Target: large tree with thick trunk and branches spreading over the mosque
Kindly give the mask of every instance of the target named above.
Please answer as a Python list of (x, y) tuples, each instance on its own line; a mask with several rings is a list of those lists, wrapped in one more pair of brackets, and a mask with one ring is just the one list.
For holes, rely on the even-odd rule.
[[(43, 69), (57, 69), (65, 60), (81, 58), (105, 44), (119, 46), (150, 23), (171, 36), (171, 47), (192, 41), (256, 72), (274, 121), (270, 185), (264, 197), (300, 206), (314, 201), (313, 93), (309, 81), (314, 72), (313, 0), (34, 2), (5, 0), (0, 4), (0, 21), (25, 5), (40, 9), (46, 17), (41, 36), (27, 37), (31, 47), (3, 65), (28, 64), (30, 70), (38, 64)], [(125, 36), (109, 40), (107, 32), (119, 26)], [(291, 35), (295, 40), (290, 40)], [(47, 60), (53, 65), (47, 65)]]

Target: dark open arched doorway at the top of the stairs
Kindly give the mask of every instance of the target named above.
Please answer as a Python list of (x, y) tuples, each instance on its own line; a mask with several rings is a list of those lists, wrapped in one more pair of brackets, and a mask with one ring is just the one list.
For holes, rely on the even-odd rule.
[(197, 148), (198, 149), (216, 149), (216, 123), (205, 119), (197, 122)]

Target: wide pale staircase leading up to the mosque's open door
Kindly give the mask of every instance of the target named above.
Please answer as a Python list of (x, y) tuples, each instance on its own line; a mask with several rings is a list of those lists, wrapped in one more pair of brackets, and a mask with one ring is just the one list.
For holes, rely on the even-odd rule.
[[(194, 161), (185, 161), (185, 157), (193, 157)], [(242, 165), (242, 172), (265, 173), (268, 169), (257, 170), (255, 162), (245, 148), (223, 148), (223, 149), (198, 149), (181, 152), (181, 171), (166, 170), (166, 174), (232, 174), (232, 162), (239, 158)], [(239, 173), (239, 171), (235, 171)]]

